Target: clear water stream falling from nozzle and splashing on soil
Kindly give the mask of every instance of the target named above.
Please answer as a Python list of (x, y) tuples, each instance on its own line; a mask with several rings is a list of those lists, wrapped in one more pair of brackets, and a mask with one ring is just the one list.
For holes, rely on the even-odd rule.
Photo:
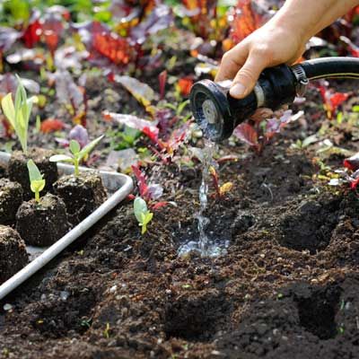
[(217, 257), (226, 253), (229, 241), (223, 241), (220, 238), (213, 238), (208, 236), (206, 228), (210, 223), (210, 219), (206, 217), (206, 208), (208, 206), (208, 183), (211, 180), (210, 168), (211, 166), (217, 168), (217, 163), (214, 160), (216, 151), (216, 144), (208, 139), (205, 139), (204, 148), (197, 157), (202, 163), (202, 180), (199, 187), (199, 212), (195, 214), (197, 219), (197, 230), (199, 237), (197, 241), (188, 241), (182, 244), (179, 248), (179, 255), (185, 256), (189, 252), (197, 252), (201, 257)]

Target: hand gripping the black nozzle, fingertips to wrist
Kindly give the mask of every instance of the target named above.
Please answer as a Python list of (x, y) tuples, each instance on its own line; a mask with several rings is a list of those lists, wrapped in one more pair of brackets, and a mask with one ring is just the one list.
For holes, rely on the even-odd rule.
[(299, 31), (269, 21), (223, 55), (215, 81), (233, 79), (231, 96), (246, 97), (265, 68), (292, 65), (304, 52), (305, 43)]

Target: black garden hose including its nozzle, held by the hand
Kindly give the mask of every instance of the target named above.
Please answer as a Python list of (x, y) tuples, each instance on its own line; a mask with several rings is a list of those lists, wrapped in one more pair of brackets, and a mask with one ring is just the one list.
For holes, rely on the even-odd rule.
[(232, 135), (235, 127), (261, 107), (279, 109), (302, 96), (309, 80), (321, 78), (359, 78), (359, 58), (322, 57), (294, 66), (265, 69), (254, 90), (244, 99), (232, 98), (231, 81), (202, 80), (190, 92), (193, 115), (204, 136), (220, 142)]

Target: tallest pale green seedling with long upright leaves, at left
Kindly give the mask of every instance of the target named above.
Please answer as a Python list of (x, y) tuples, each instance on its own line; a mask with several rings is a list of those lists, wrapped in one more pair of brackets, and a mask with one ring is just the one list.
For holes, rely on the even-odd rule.
[(31, 115), (32, 104), (38, 101), (36, 96), (28, 99), (25, 88), (22, 85), (20, 77), (16, 75), (19, 85), (15, 94), (15, 103), (13, 103), (12, 93), (9, 92), (1, 101), (1, 107), (5, 118), (10, 122), (16, 136), (18, 136), (22, 145), (22, 152), (28, 153), (28, 128)]

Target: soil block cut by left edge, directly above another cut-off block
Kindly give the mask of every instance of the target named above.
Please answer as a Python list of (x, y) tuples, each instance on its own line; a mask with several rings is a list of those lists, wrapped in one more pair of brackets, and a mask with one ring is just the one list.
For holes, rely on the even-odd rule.
[(21, 204), (21, 184), (0, 179), (0, 224), (14, 224), (17, 209)]

